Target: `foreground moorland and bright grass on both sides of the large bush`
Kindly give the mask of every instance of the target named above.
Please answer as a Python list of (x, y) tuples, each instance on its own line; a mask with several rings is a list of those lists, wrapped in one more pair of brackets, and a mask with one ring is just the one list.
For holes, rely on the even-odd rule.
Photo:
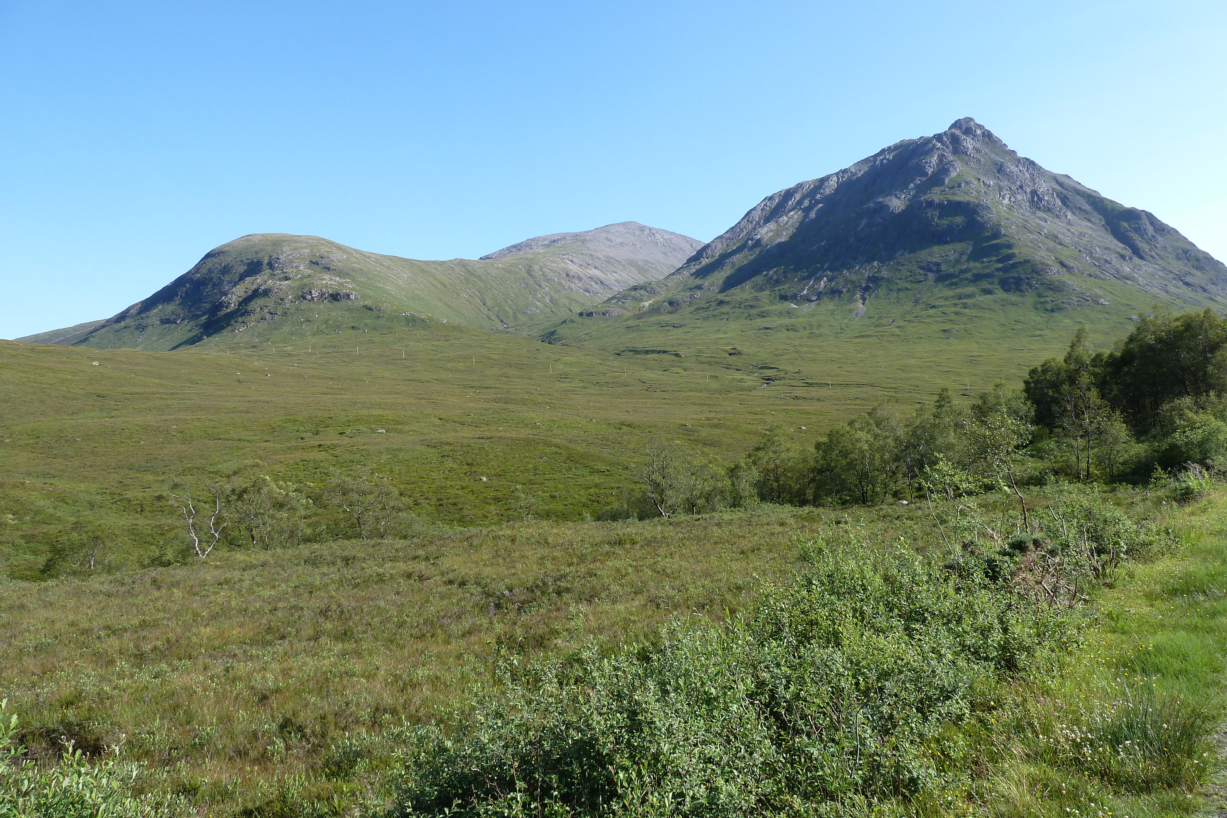
[[(1158, 515), (1135, 558), (1118, 563), (1099, 590), (1083, 586), (1090, 598), (1072, 608), (1039, 605), (1028, 614), (999, 602), (1023, 617), (1020, 624), (1036, 623), (1027, 625), (1036, 638), (1017, 643), (1020, 661), (985, 666), (968, 687), (948, 688), (942, 695), (953, 698), (935, 732), (898, 751), (931, 780), (893, 796), (853, 782), (831, 814), (859, 814), (858, 803), (929, 816), (1183, 816), (1202, 807), (1227, 650), (1227, 493), (1211, 491), (1183, 509), (1144, 492), (1103, 497), (1096, 508), (1109, 516), (1117, 509), (1112, 519)], [(1049, 515), (1049, 532), (1055, 516), (1045, 506), (1071, 519), (1067, 492), (1031, 502), (1037, 518)], [(991, 560), (993, 538), (975, 526), (1014, 529), (1011, 508), (988, 497), (935, 510), (946, 535), (962, 531), (978, 543), (960, 559), (979, 548)], [(1162, 533), (1168, 527), (1175, 540)], [(874, 553), (887, 562), (865, 563)], [(501, 686), (517, 689), (515, 667), (550, 656), (627, 661), (618, 657), (644, 654), (625, 654), (625, 645), (654, 645), (652, 655), (677, 643), (679, 627), (709, 633), (698, 643), (709, 650), (723, 644), (721, 630), (761, 613), (764, 592), (777, 601), (795, 592), (798, 571), (826, 565), (823, 576), (845, 583), (864, 576), (865, 564), (880, 569), (908, 553), (948, 560), (928, 508), (768, 506), (220, 552), (137, 573), (10, 583), (0, 595), (0, 678), (21, 715), (17, 737), (40, 759), (65, 738), (96, 755), (118, 744), (121, 758), (146, 765), (140, 787), (177, 793), (198, 814), (382, 814), (406, 803), (412, 782), (433, 769), (406, 760), (429, 746), (426, 727), (415, 725), (460, 725), (476, 705), (491, 731), (510, 730), (481, 703), (503, 695)], [(829, 554), (844, 557), (831, 563)], [(924, 580), (891, 598), (940, 590), (948, 581), (940, 575), (935, 586)], [(1009, 598), (1023, 586), (1011, 587)], [(979, 594), (995, 598), (988, 586)], [(877, 605), (864, 591), (855, 598)], [(870, 621), (870, 611), (855, 616)], [(930, 616), (924, 627), (940, 623)], [(499, 663), (513, 675), (504, 670), (496, 683)], [(908, 666), (928, 678), (923, 665)], [(903, 686), (901, 701), (910, 701), (907, 678), (893, 683)], [(863, 713), (858, 730), (867, 731)], [(498, 809), (488, 814), (531, 812)]]

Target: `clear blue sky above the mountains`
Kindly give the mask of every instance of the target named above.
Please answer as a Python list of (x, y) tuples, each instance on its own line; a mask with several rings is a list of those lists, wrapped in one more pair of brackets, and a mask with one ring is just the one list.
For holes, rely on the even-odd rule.
[(1227, 259), (1227, 4), (0, 0), (0, 337), (245, 233), (474, 258), (974, 117)]

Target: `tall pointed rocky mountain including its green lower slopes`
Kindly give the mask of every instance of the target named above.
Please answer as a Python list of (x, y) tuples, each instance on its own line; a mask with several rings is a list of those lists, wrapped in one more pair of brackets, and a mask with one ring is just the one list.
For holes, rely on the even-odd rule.
[(772, 365), (1021, 363), (1080, 324), (1118, 336), (1158, 304), (1227, 309), (1227, 267), (961, 119), (768, 196), (664, 281), (540, 332), (758, 364), (774, 383)]

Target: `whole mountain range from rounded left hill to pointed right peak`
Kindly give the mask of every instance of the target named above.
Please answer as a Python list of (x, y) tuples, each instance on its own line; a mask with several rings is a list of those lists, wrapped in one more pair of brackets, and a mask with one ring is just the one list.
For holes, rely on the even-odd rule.
[(1164, 305), (1227, 312), (1227, 267), (964, 118), (774, 193), (707, 244), (621, 222), (415, 261), (255, 234), (97, 326), (28, 340), (171, 350), (362, 332), (375, 319), (394, 331), (396, 318), (734, 368), (748, 353), (805, 364), (840, 338), (1022, 359), (1080, 324), (1117, 337)]

